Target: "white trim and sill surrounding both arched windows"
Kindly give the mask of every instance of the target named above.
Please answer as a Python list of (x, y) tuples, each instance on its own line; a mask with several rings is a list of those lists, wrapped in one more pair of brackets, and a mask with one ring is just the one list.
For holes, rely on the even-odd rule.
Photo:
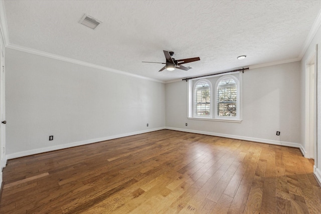
[[(223, 75), (219, 80), (222, 80), (223, 78), (227, 77), (227, 76), (232, 76), (232, 75)], [(232, 76), (234, 80), (236, 80), (237, 82), (237, 87), (238, 87), (238, 99), (239, 99), (239, 108), (238, 108), (238, 118), (218, 118), (218, 117), (213, 117), (213, 115), (215, 115), (215, 112), (217, 109), (215, 109), (213, 112), (213, 104), (214, 104), (214, 108), (217, 108), (216, 107), (216, 102), (213, 103), (213, 97), (216, 99), (216, 93), (217, 92), (214, 92), (213, 91), (213, 88), (212, 88), (212, 94), (211, 94), (211, 117), (194, 117), (194, 89), (195, 89), (195, 86), (197, 85), (197, 82), (200, 81), (200, 80), (206, 80), (206, 79), (199, 79), (195, 84), (193, 84), (193, 80), (189, 80), (188, 81), (188, 84), (187, 84), (187, 91), (188, 91), (188, 99), (187, 99), (187, 105), (188, 105), (188, 114), (187, 114), (187, 118), (190, 119), (190, 120), (207, 120), (207, 121), (220, 121), (220, 122), (233, 122), (233, 123), (241, 123), (242, 120), (243, 120), (243, 115), (242, 115), (242, 72), (239, 72), (239, 78), (237, 79), (236, 77)], [(207, 80), (208, 81), (208, 80)], [(217, 82), (217, 84), (218, 84)], [(212, 87), (212, 84), (211, 84), (211, 87)], [(216, 86), (217, 87), (217, 86)], [(215, 88), (216, 90), (216, 88)]]

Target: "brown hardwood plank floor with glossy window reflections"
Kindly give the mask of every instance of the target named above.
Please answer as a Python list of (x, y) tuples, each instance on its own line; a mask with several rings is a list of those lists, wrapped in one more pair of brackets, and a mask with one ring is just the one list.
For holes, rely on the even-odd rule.
[(321, 213), (298, 148), (161, 130), (12, 159), (0, 213)]

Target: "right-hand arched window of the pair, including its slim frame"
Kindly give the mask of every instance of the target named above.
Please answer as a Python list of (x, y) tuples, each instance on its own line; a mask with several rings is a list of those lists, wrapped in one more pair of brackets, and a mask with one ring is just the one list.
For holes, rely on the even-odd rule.
[(223, 76), (216, 82), (215, 117), (239, 117), (238, 80), (232, 75)]

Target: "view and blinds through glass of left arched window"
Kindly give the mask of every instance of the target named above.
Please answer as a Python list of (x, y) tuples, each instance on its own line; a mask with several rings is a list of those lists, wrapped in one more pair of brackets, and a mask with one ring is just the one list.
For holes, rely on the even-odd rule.
[(195, 115), (211, 115), (211, 93), (207, 82), (202, 81), (195, 87)]

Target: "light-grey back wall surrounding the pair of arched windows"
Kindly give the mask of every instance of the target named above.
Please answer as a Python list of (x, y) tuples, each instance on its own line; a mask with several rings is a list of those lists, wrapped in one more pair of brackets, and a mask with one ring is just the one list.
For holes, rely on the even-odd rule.
[[(299, 62), (244, 72), (241, 123), (189, 120), (187, 84), (186, 81), (166, 84), (168, 128), (300, 147)], [(281, 135), (276, 136), (276, 131)]]

